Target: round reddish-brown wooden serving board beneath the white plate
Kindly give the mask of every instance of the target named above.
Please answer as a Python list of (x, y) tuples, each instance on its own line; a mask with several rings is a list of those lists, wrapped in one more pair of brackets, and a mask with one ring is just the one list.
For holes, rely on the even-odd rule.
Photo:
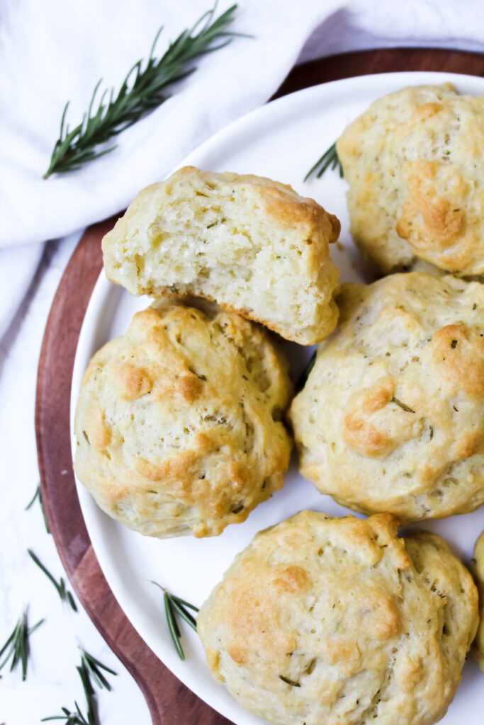
[[(438, 49), (358, 51), (296, 67), (274, 98), (300, 88), (369, 73), (438, 70), (484, 75), (484, 55)], [(83, 235), (65, 270), (46, 325), (38, 365), (36, 436), (42, 496), (62, 564), (102, 637), (134, 676), (153, 725), (230, 725), (157, 659), (123, 614), (104, 579), (79, 506), (70, 455), (70, 383), (75, 350), (94, 283), (102, 268), (101, 239), (111, 218)], [(66, 473), (63, 473), (67, 471)]]

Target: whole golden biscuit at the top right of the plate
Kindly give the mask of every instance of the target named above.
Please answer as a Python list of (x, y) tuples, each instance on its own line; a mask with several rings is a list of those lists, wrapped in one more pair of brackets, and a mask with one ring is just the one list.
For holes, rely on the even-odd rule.
[(484, 96), (450, 83), (384, 96), (337, 141), (354, 241), (385, 274), (417, 258), (484, 273)]

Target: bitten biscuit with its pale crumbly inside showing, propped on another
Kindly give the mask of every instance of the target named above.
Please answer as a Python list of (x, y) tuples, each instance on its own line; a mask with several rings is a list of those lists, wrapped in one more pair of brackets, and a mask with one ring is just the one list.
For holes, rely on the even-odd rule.
[(253, 175), (184, 167), (141, 191), (102, 240), (110, 281), (131, 294), (193, 294), (313, 344), (335, 328), (340, 222)]

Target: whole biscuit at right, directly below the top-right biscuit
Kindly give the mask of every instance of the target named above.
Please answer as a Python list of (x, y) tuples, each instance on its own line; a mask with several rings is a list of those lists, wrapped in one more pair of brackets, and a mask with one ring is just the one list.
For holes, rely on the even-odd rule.
[(346, 284), (290, 408), (303, 476), (402, 522), (484, 502), (484, 286), (395, 274)]

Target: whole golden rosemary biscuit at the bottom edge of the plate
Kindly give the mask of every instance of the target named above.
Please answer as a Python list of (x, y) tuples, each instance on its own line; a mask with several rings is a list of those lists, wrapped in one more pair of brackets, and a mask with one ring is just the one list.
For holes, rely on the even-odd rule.
[[(302, 511), (258, 534), (197, 618), (213, 676), (274, 725), (431, 725), (477, 626), (472, 576), (435, 534)], [(398, 713), (398, 716), (397, 716)]]

